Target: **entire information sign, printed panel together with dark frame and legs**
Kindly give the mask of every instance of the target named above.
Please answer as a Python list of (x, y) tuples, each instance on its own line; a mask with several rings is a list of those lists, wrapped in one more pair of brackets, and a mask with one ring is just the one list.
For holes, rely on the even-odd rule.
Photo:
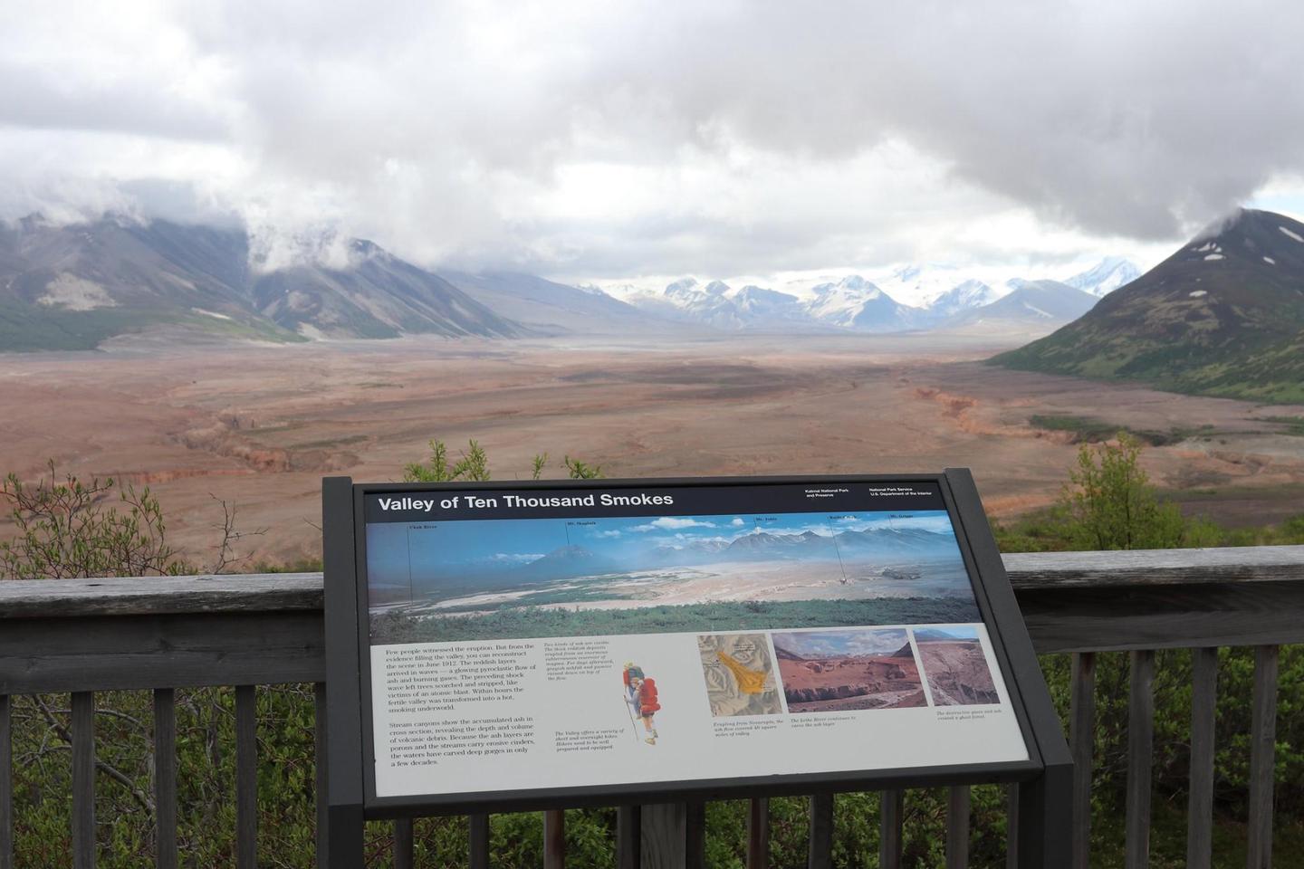
[[(1017, 782), (1072, 762), (968, 470), (323, 482), (330, 853), (365, 818)], [(619, 706), (617, 706), (619, 692)]]

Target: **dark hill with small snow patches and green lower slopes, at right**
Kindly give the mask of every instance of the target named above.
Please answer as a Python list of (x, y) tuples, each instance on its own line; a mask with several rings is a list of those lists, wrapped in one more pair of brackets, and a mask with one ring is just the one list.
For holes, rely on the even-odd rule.
[(1081, 318), (991, 362), (1304, 401), (1304, 224), (1243, 210)]

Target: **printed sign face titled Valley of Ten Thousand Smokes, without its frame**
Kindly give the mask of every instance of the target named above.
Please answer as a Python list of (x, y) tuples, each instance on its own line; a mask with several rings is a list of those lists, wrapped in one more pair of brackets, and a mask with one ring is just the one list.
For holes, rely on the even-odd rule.
[(364, 511), (377, 797), (1029, 757), (936, 482)]

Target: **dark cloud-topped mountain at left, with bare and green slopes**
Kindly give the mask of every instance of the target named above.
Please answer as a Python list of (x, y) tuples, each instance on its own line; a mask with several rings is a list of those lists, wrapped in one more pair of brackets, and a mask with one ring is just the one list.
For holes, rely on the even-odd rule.
[(0, 352), (93, 349), (160, 327), (271, 341), (522, 331), (368, 241), (339, 248), (333, 258), (258, 270), (239, 228), (110, 218), (0, 224)]

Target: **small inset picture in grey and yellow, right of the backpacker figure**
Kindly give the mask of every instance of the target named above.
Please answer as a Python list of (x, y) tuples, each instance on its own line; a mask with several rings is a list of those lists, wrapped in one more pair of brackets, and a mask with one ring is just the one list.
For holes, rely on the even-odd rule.
[(698, 637), (698, 651), (712, 715), (778, 715), (784, 711), (765, 634), (703, 634)]

